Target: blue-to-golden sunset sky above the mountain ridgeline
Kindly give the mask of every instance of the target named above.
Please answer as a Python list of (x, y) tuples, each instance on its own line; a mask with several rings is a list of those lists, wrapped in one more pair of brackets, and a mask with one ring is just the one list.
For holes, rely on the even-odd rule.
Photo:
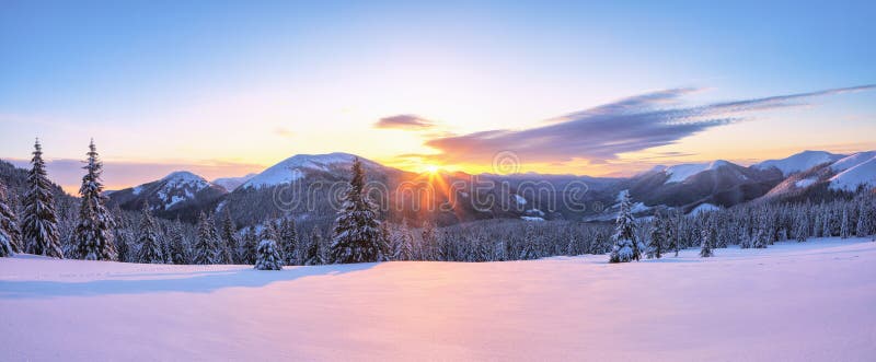
[(0, 159), (626, 175), (876, 149), (876, 3), (3, 1)]

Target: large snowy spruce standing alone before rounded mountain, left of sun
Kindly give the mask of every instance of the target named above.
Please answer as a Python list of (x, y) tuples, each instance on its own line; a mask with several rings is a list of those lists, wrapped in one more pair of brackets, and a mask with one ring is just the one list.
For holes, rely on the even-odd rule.
[(353, 161), (353, 179), (335, 220), (331, 247), (332, 262), (371, 262), (380, 257), (380, 223), (376, 207), (365, 194), (365, 171), (359, 159)]

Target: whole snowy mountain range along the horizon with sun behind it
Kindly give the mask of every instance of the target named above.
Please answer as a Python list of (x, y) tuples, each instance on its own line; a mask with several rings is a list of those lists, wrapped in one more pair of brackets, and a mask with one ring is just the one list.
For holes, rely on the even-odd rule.
[[(355, 157), (299, 154), (258, 174), (214, 182), (181, 171), (108, 196), (122, 209), (148, 203), (160, 217), (188, 221), (201, 211), (221, 211), (241, 225), (285, 213), (330, 222)], [(860, 185), (876, 186), (874, 151), (850, 155), (804, 151), (750, 166), (723, 160), (657, 166), (632, 177), (416, 174), (358, 159), (370, 185), (382, 185), (372, 187), (371, 196), (384, 218), (441, 225), (496, 218), (609, 220), (622, 190), (630, 191), (635, 211), (646, 215), (658, 209), (691, 212), (749, 201), (822, 200), (855, 191)], [(580, 192), (581, 185), (586, 192)], [(391, 191), (380, 192), (381, 187)]]

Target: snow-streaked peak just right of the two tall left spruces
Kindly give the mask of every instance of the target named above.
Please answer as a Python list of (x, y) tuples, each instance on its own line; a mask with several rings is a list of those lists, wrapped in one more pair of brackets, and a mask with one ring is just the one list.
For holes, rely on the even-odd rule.
[(155, 182), (114, 191), (108, 197), (123, 210), (139, 210), (149, 203), (159, 217), (192, 221), (205, 207), (215, 206), (226, 194), (228, 191), (222, 186), (191, 172), (177, 171)]

